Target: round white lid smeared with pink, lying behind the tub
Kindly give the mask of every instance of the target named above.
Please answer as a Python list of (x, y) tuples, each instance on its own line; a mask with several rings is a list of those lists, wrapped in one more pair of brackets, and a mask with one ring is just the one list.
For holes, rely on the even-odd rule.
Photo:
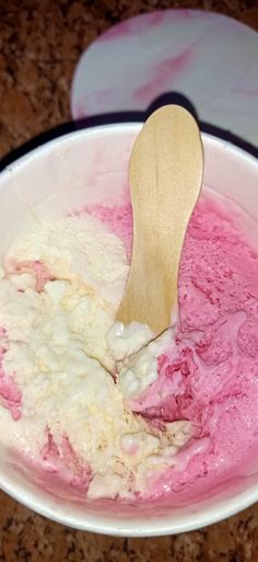
[(257, 145), (257, 33), (198, 10), (132, 18), (84, 51), (73, 79), (72, 115), (143, 111), (166, 92), (188, 98), (201, 121)]

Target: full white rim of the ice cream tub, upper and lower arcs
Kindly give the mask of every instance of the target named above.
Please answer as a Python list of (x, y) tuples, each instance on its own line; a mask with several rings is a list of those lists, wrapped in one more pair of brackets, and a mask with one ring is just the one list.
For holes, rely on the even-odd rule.
[[(80, 137), (101, 137), (104, 133), (110, 135), (137, 133), (140, 130), (142, 122), (97, 125), (58, 136), (57, 138), (51, 139), (20, 157), (13, 163), (8, 164), (0, 173), (0, 188), (10, 174), (15, 173), (23, 165), (28, 165), (32, 160), (40, 158), (45, 152), (50, 152), (52, 148), (63, 144), (73, 142), (73, 140), (77, 140)], [(215, 137), (208, 133), (201, 133), (201, 136), (204, 142), (210, 142), (220, 148), (224, 148), (232, 154), (235, 154), (242, 160), (257, 167), (258, 175), (258, 159), (255, 156), (220, 137)], [(258, 483), (253, 483), (244, 492), (233, 495), (226, 501), (219, 500), (213, 507), (204, 506), (200, 513), (191, 513), (190, 515), (185, 516), (184, 519), (181, 518), (181, 520), (176, 520), (176, 518), (174, 520), (173, 515), (171, 517), (162, 515), (149, 519), (140, 518), (138, 520), (134, 518), (128, 519), (127, 517), (120, 517), (119, 519), (110, 517), (107, 519), (98, 515), (84, 515), (81, 512), (71, 515), (68, 513), (69, 509), (66, 507), (63, 508), (62, 504), (58, 506), (57, 501), (50, 498), (50, 496), (46, 496), (43, 500), (43, 497), (40, 495), (38, 496), (34, 491), (25, 491), (21, 483), (13, 484), (12, 477), (5, 473), (2, 474), (1, 471), (0, 489), (22, 505), (25, 505), (50, 520), (80, 530), (120, 537), (154, 537), (200, 529), (204, 526), (225, 519), (226, 517), (249, 507), (258, 501)]]

